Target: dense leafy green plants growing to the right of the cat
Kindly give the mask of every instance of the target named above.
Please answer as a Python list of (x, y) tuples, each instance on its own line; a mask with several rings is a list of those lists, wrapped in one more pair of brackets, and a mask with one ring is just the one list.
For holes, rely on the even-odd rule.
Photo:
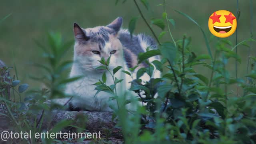
[[(148, 9), (147, 0), (141, 0)], [(165, 2), (165, 1), (164, 1)], [(136, 0), (134, 0), (141, 17), (146, 22), (142, 11)], [(168, 15), (164, 6), (163, 19), (168, 21)], [(196, 25), (199, 24), (187, 14), (175, 10), (182, 14)], [(156, 20), (156, 19), (153, 19)], [(153, 22), (156, 26), (164, 28), (163, 21)], [(173, 21), (172, 21), (173, 22)], [(136, 23), (132, 23), (132, 30)], [(204, 35), (209, 54), (196, 55), (190, 46), (191, 38), (184, 36), (183, 39), (174, 42), (174, 38), (168, 32), (172, 42), (161, 43), (151, 26), (146, 22), (153, 36), (157, 39), (158, 50), (147, 51), (139, 55), (138, 61), (142, 62), (151, 56), (160, 54), (161, 61), (149, 64), (148, 68), (141, 68), (137, 72), (137, 77), (146, 73), (151, 76), (153, 65), (160, 71), (166, 70), (162, 78), (151, 78), (146, 84), (142, 84), (140, 79), (132, 81), (130, 90), (136, 92), (140, 97), (143, 112), (138, 110), (136, 114), (141, 116), (141, 121), (122, 120), (123, 115), (119, 115), (124, 140), (127, 143), (255, 143), (256, 139), (256, 103), (254, 86), (254, 67), (251, 74), (246, 77), (249, 82), (242, 78), (233, 77), (226, 70), (228, 61), (234, 58), (241, 62), (240, 57), (233, 52), (233, 49), (240, 44), (247, 45), (245, 41), (235, 44), (226, 39), (221, 39), (213, 46), (214, 56), (210, 49), (210, 44), (204, 30), (200, 27)], [(162, 36), (164, 33), (161, 33)], [(250, 38), (248, 41), (255, 41)], [(254, 59), (251, 57), (251, 59)], [(208, 62), (210, 60), (210, 63)], [(166, 64), (167, 62), (167, 64)], [(254, 60), (252, 60), (254, 64)], [(195, 67), (209, 68), (212, 73), (210, 78), (196, 72)], [(237, 84), (243, 89), (243, 94), (230, 91), (232, 84)], [(140, 96), (144, 92), (144, 96)], [(158, 97), (154, 95), (158, 92)], [(122, 112), (125, 113), (125, 112)], [(132, 118), (134, 114), (131, 114)], [(134, 131), (130, 131), (126, 125), (138, 126), (141, 133), (134, 136)], [(137, 133), (136, 133), (137, 134)], [(133, 135), (133, 136), (131, 136)]]

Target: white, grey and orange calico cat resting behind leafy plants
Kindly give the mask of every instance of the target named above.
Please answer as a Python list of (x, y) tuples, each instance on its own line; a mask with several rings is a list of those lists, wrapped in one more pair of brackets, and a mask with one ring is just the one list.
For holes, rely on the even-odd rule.
[[(123, 19), (116, 18), (107, 26), (97, 26), (95, 28), (83, 29), (74, 23), (74, 63), (70, 72), (70, 77), (83, 76), (83, 78), (67, 84), (66, 94), (74, 96), (69, 102), (70, 110), (107, 111), (111, 112), (110, 105), (116, 107), (115, 100), (110, 100), (112, 96), (106, 92), (99, 92), (96, 96), (94, 83), (102, 78), (104, 70), (96, 70), (102, 66), (99, 62), (101, 58), (105, 60), (110, 57), (108, 65), (110, 71), (117, 66), (122, 66), (122, 70), (129, 71), (138, 63), (138, 54), (146, 52), (146, 48), (156, 49), (157, 44), (154, 39), (145, 34), (130, 36), (130, 32), (122, 29)], [(149, 58), (149, 62), (157, 60), (154, 56)], [(136, 71), (141, 67), (147, 67), (144, 62), (136, 68), (133, 78), (136, 79)], [(117, 90), (119, 94), (130, 88), (131, 76), (119, 70), (115, 76), (120, 80), (124, 79)], [(154, 78), (160, 78), (160, 71), (154, 70)], [(106, 84), (114, 84), (109, 72), (106, 72)], [(150, 80), (146, 73), (140, 77), (143, 82)], [(56, 100), (59, 104), (64, 104), (69, 98)]]

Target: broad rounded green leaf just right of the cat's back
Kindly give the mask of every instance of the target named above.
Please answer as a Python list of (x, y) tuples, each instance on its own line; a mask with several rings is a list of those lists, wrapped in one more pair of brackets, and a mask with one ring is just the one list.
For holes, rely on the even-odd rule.
[(165, 42), (160, 46), (160, 52), (164, 58), (172, 64), (176, 59), (177, 48), (170, 42)]

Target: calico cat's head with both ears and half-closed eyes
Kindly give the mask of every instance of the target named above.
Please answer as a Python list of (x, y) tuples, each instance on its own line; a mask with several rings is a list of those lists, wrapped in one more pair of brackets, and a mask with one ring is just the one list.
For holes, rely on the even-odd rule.
[(118, 39), (118, 31), (122, 25), (122, 18), (118, 17), (107, 26), (82, 29), (74, 24), (74, 60), (84, 71), (103, 72), (96, 70), (102, 66), (102, 58), (107, 60), (110, 56), (109, 68), (120, 66), (123, 59), (123, 49)]

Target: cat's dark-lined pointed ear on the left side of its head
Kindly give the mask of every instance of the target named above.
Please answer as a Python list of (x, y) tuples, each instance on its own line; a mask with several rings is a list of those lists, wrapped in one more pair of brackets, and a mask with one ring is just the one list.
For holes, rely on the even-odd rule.
[(78, 41), (78, 42), (89, 40), (89, 37), (86, 36), (85, 30), (80, 28), (80, 26), (78, 26), (78, 24), (76, 24), (76, 23), (74, 23), (74, 36), (75, 36), (76, 41)]

